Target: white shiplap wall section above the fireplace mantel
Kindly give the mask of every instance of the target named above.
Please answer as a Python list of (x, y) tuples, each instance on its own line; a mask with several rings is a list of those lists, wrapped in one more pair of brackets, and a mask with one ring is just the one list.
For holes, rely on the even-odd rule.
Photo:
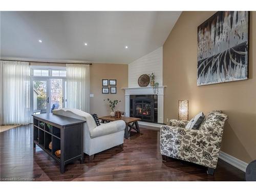
[(129, 63), (128, 86), (139, 87), (138, 78), (142, 74), (155, 73), (155, 82), (163, 85), (163, 47), (148, 53), (147, 55)]

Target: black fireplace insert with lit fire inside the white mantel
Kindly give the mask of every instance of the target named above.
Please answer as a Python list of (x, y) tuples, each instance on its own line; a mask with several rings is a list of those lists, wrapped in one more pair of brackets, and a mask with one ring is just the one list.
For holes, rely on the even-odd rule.
[(130, 95), (130, 116), (157, 123), (157, 95)]

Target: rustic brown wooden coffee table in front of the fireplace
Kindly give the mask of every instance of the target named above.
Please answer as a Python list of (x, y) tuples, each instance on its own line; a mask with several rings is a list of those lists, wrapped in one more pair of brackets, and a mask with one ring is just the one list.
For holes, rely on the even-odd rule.
[[(101, 119), (101, 122), (110, 122), (110, 121), (117, 121), (117, 120), (123, 120), (126, 124), (125, 130), (124, 130), (124, 137), (127, 139), (130, 135), (130, 132), (132, 129), (134, 129), (137, 133), (140, 133), (140, 127), (138, 124), (138, 121), (140, 118), (135, 118), (135, 117), (121, 117), (121, 118), (115, 118), (109, 116), (104, 116), (104, 117), (99, 117)], [(130, 127), (130, 129), (129, 129)]]

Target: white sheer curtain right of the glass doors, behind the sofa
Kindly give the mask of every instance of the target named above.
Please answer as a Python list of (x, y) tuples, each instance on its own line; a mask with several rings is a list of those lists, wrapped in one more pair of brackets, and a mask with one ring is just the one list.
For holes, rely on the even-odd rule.
[(90, 65), (67, 64), (67, 107), (90, 113)]

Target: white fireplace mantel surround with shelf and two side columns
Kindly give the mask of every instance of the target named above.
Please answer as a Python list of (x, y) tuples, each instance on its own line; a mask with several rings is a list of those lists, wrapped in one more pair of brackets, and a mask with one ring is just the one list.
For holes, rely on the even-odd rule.
[[(159, 86), (158, 88), (158, 123), (163, 123), (163, 95), (166, 86)], [(125, 116), (130, 117), (130, 95), (155, 95), (153, 87), (133, 87), (121, 88), (125, 90)]]

